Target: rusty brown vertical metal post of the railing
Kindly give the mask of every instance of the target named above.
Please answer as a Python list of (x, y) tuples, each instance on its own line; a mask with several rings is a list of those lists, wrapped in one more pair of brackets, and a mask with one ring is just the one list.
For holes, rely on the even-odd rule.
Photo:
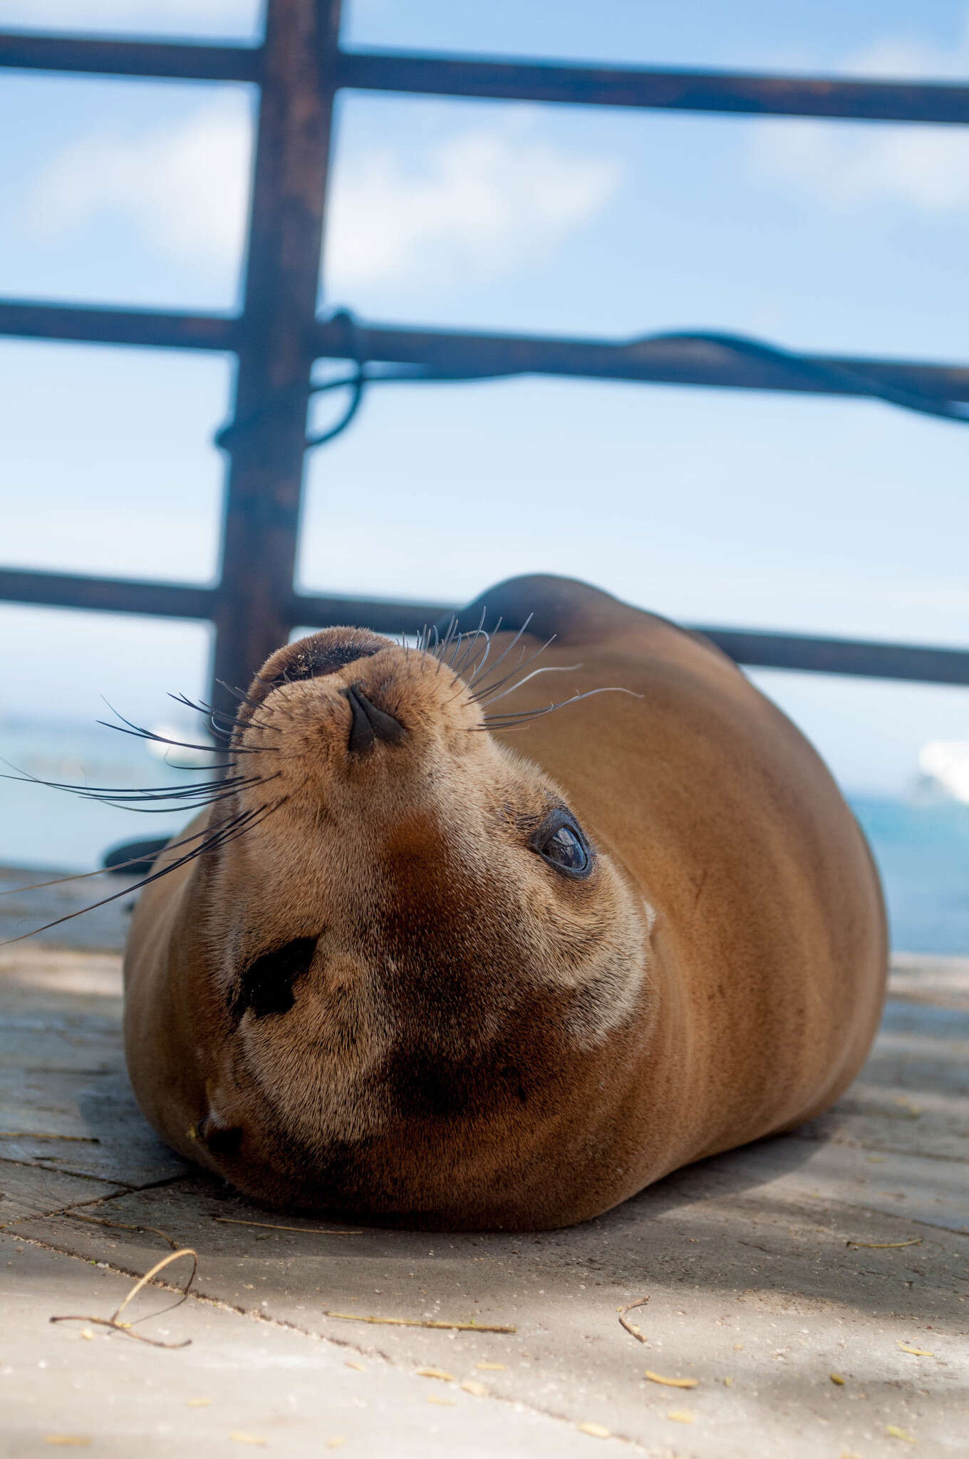
[(212, 702), (290, 629), (340, 0), (269, 0)]

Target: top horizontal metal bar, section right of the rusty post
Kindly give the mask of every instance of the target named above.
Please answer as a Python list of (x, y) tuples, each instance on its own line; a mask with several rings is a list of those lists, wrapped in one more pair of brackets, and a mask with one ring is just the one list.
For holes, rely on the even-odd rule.
[(969, 123), (969, 86), (937, 82), (555, 66), (546, 61), (412, 55), (406, 51), (350, 51), (340, 57), (339, 83), (358, 90), (582, 107)]

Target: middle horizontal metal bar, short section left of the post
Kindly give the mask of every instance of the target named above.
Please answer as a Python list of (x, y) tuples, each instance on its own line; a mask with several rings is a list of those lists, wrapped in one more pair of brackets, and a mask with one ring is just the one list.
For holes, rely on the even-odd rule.
[(35, 299), (0, 299), (0, 334), (83, 344), (159, 346), (181, 350), (233, 350), (239, 321), (220, 314), (112, 309)]

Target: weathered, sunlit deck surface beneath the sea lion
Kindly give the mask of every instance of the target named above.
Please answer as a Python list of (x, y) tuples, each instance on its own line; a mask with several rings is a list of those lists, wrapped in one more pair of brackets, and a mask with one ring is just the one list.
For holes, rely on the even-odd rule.
[[(83, 889), (3, 899), (0, 938)], [(126, 900), (0, 950), (0, 1453), (969, 1455), (969, 960), (896, 957), (860, 1080), (794, 1135), (574, 1230), (363, 1230), (155, 1138)], [(184, 1247), (187, 1299), (182, 1255), (105, 1325)]]

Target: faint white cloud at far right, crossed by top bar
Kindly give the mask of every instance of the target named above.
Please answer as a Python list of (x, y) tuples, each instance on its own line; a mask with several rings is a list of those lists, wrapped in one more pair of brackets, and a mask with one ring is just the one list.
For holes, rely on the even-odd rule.
[[(969, 12), (953, 48), (887, 36), (845, 64), (858, 76), (969, 74)], [(749, 152), (756, 177), (832, 207), (903, 206), (944, 214), (969, 210), (965, 127), (808, 120), (762, 121)]]

